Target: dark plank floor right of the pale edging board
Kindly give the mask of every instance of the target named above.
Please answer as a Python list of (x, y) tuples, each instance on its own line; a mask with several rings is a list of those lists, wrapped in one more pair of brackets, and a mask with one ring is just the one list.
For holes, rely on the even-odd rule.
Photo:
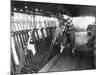
[[(67, 51), (67, 50), (66, 50)], [(93, 69), (91, 53), (81, 52), (79, 55), (71, 56), (68, 52), (64, 52), (61, 58), (48, 72), (75, 71)]]

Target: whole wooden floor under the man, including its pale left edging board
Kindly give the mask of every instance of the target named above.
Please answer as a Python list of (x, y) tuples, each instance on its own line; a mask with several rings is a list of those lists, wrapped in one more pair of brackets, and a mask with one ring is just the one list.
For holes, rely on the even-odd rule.
[(65, 49), (62, 54), (58, 54), (58, 56), (54, 57), (53, 60), (47, 64), (48, 66), (44, 66), (39, 72), (95, 69), (93, 62), (93, 56), (90, 52), (80, 51), (77, 55), (73, 56), (70, 49)]

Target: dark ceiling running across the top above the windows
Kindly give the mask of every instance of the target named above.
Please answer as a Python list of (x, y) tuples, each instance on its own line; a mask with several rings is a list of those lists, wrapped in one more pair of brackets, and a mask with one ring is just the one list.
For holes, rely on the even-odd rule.
[(72, 17), (76, 16), (96, 16), (96, 6), (90, 5), (71, 5), (71, 4), (56, 4), (56, 3), (42, 3), (42, 2), (25, 2), (25, 1), (11, 1), (11, 8), (28, 10), (37, 8), (43, 11), (49, 11), (53, 14), (62, 11), (64, 14)]

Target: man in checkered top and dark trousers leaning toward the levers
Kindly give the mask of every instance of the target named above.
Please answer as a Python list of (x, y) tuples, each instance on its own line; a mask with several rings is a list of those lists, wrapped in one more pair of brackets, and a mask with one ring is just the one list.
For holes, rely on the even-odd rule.
[(61, 39), (60, 53), (62, 53), (64, 48), (66, 48), (69, 45), (72, 50), (72, 53), (74, 54), (75, 33), (71, 17), (67, 15), (60, 15), (58, 20), (59, 26), (57, 27), (55, 34), (57, 35), (57, 37), (60, 37)]

